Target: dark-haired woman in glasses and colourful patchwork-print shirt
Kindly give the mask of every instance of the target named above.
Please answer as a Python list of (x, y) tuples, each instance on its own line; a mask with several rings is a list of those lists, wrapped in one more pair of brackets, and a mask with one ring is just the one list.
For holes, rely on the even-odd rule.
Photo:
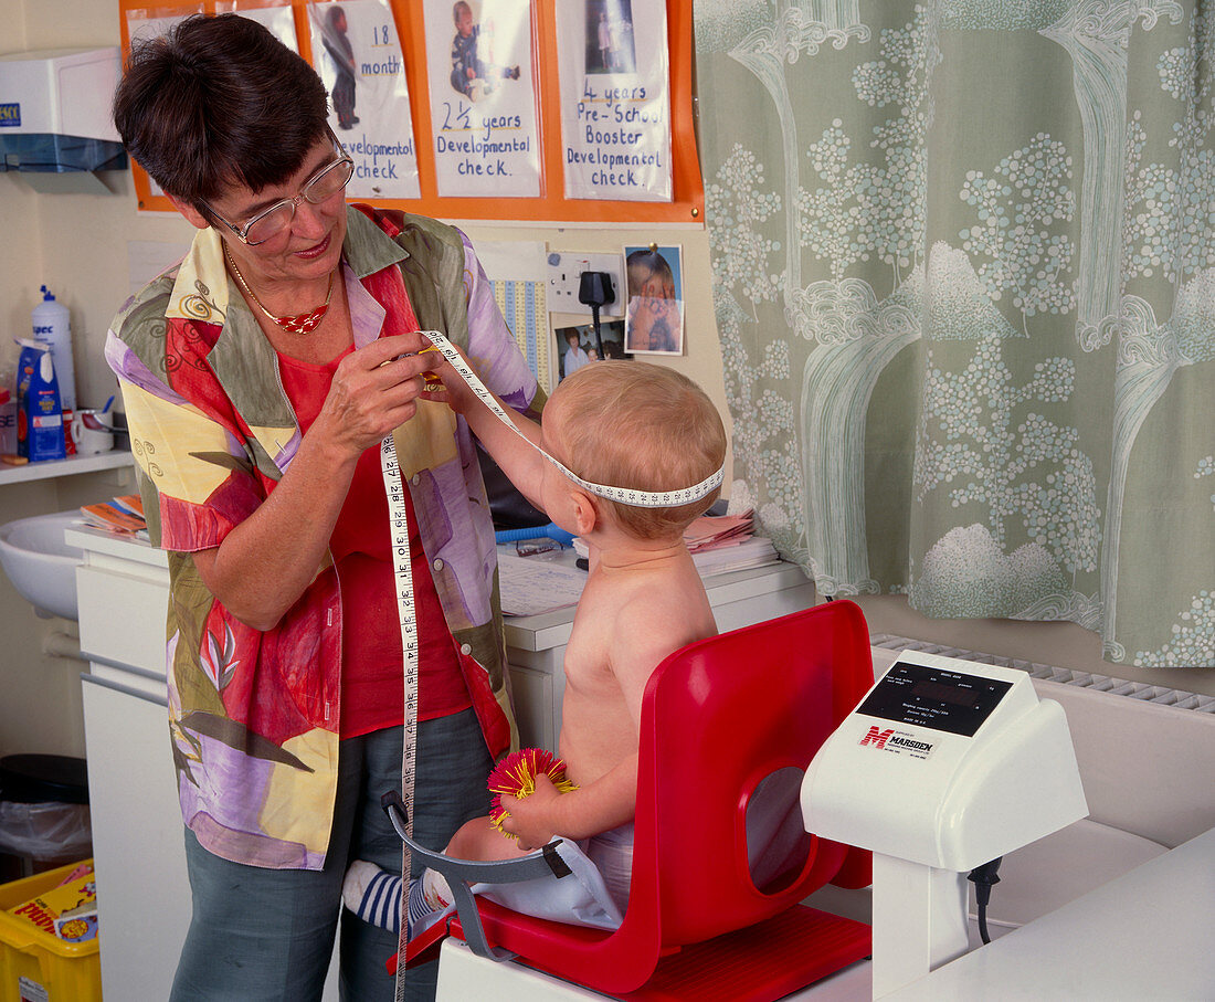
[[(349, 861), (401, 856), (379, 809), (405, 700), (378, 445), (395, 434), (407, 488), (416, 834), (441, 847), (488, 810), (514, 723), (485, 488), (464, 421), (422, 396), (417, 332), (443, 332), (512, 407), (543, 396), (462, 233), (347, 206), (324, 85), (258, 23), (191, 17), (136, 46), (114, 120), (197, 227), (106, 346), (169, 553), (193, 893), (173, 997), (317, 998), (341, 913), (344, 997), (390, 998), (395, 938), (341, 911)], [(426, 980), (411, 969), (412, 997)]]

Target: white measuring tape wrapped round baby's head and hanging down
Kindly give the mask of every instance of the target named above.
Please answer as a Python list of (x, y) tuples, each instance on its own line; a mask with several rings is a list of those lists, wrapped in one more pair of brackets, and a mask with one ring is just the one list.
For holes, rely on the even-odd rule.
[[(476, 373), (469, 368), (463, 356), (447, 338), (437, 330), (423, 330), (422, 334), (434, 345), (434, 350), (440, 351), (443, 358), (451, 362), (452, 368), (459, 373), (460, 379), (469, 385), (469, 389), (476, 394), (477, 398), (490, 408), (499, 421), (505, 424), (515, 435), (556, 466), (571, 481), (592, 494), (638, 508), (673, 508), (707, 497), (720, 486), (725, 476), (725, 468), (723, 465), (717, 472), (694, 487), (685, 487), (679, 491), (633, 491), (627, 487), (610, 487), (604, 483), (593, 483), (583, 480), (519, 430), (507, 412), (498, 406), (493, 394), (477, 379)], [(431, 349), (423, 350), (430, 351)], [(380, 472), (384, 476), (384, 493), (388, 497), (389, 533), (392, 544), (392, 581), (396, 588), (396, 607), (401, 618), (401, 649), (405, 656), (405, 747), (401, 754), (401, 799), (405, 803), (406, 834), (413, 838), (413, 799), (418, 768), (418, 617), (413, 601), (413, 571), (409, 564), (409, 526), (405, 503), (405, 492), (407, 488), (405, 479), (401, 476), (401, 464), (397, 459), (396, 443), (391, 434), (386, 435), (380, 442)], [(402, 921), (397, 941), (397, 956), (401, 961), (397, 964), (396, 975), (397, 1002), (401, 1002), (405, 997), (406, 964), (403, 958), (406, 956), (408, 932), (408, 922), (405, 921), (405, 917), (408, 915), (407, 896), (411, 862), (409, 847), (402, 843)]]

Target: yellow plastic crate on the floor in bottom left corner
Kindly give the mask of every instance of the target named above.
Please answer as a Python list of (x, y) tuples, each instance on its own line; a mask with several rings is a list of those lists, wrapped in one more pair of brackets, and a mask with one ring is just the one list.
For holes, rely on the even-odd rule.
[(0, 1002), (101, 1002), (96, 939), (64, 942), (9, 915), (10, 908), (50, 890), (79, 865), (0, 885)]

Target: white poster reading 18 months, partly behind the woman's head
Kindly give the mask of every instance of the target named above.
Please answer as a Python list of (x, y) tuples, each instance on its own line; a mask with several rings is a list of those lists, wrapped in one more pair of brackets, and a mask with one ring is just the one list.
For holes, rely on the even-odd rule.
[(388, 0), (309, 4), (329, 124), (355, 162), (347, 196), (419, 198), (405, 58)]

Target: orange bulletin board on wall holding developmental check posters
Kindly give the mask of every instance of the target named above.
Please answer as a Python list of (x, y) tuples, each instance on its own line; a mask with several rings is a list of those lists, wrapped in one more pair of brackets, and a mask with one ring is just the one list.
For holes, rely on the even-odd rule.
[[(332, 0), (332, 2), (334, 6), (341, 6), (341, 0)], [(399, 45), (399, 49), (392, 49), (392, 51), (400, 51), (401, 63), (403, 63), (400, 74), (403, 79), (403, 87), (397, 90), (407, 90), (408, 92), (409, 121), (405, 123), (405, 132), (409, 135), (413, 157), (412, 174), (406, 180), (400, 183), (394, 182), (395, 186), (385, 185), (384, 188), (377, 185), (374, 192), (360, 191), (358, 186), (352, 182), (347, 199), (350, 202), (372, 202), (377, 205), (399, 208), (446, 220), (558, 225), (701, 226), (703, 223), (705, 193), (696, 154), (693, 113), (693, 0), (623, 0), (626, 11), (635, 9), (638, 27), (643, 27), (640, 18), (652, 18), (655, 12), (661, 18), (662, 7), (656, 5), (665, 2), (665, 46), (661, 36), (656, 40), (654, 38), (660, 33), (643, 35), (638, 32), (634, 62), (627, 63), (623, 56), (610, 55), (609, 50), (604, 49), (601, 56), (604, 64), (595, 66), (601, 75), (593, 77), (589, 69), (590, 63), (600, 58), (595, 55), (594, 29), (593, 27), (587, 29), (588, 40), (584, 60), (581, 52), (576, 52), (576, 60), (571, 58), (569, 55), (571, 47), (577, 50), (580, 46), (570, 45), (570, 12), (580, 11), (582, 12), (578, 15), (580, 17), (590, 21), (593, 12), (600, 10), (601, 5), (615, 4), (612, 10), (618, 11), (620, 2), (621, 0), (509, 0), (509, 2), (508, 0), (474, 0), (473, 9), (477, 13), (485, 12), (486, 17), (491, 16), (495, 10), (508, 12), (521, 10), (521, 17), (526, 22), (529, 32), (531, 66), (525, 63), (522, 73), (520, 73), (518, 63), (513, 67), (508, 66), (504, 70), (504, 90), (512, 86), (512, 74), (514, 74), (514, 79), (524, 78), (530, 89), (527, 91), (531, 95), (530, 101), (535, 103), (535, 118), (531, 120), (531, 132), (527, 134), (529, 142), (535, 143), (531, 175), (527, 177), (516, 175), (513, 179), (514, 188), (512, 189), (484, 177), (470, 179), (468, 185), (462, 183), (460, 179), (456, 179), (453, 175), (451, 159), (445, 159), (446, 149), (450, 147), (445, 148), (436, 138), (441, 130), (450, 125), (450, 121), (445, 123), (437, 119), (451, 117), (451, 102), (443, 104), (439, 97), (442, 94), (450, 97), (452, 87), (456, 86), (454, 75), (452, 75), (451, 83), (447, 79), (450, 62), (443, 62), (456, 56), (452, 43), (454, 5), (450, 0), (346, 0), (352, 15), (358, 15), (372, 4), (383, 9), (385, 22), (391, 18), (391, 24), (385, 23), (375, 32), (384, 32), (385, 35), (390, 34), (391, 30), (396, 33), (396, 38), (391, 39), (391, 43), (394, 46)], [(497, 4), (507, 6), (496, 7)], [(320, 2), (309, 2), (309, 0), (162, 0), (154, 6), (149, 6), (147, 0), (143, 2), (119, 0), (124, 58), (130, 51), (132, 26), (136, 34), (156, 33), (163, 30), (173, 21), (190, 13), (236, 11), (261, 21), (288, 44), (294, 43), (293, 47), (317, 68), (328, 89), (333, 73), (327, 70), (333, 66), (334, 46), (326, 40), (326, 50), (329, 51), (329, 56), (326, 56), (326, 51), (317, 41), (322, 38), (318, 33), (318, 24), (328, 13), (326, 10), (329, 4), (324, 0)], [(354, 17), (352, 21), (357, 22), (357, 17)], [(458, 24), (458, 21), (454, 23)], [(492, 22), (490, 24), (492, 28)], [(294, 32), (292, 32), (292, 27), (294, 27)], [(357, 23), (354, 27), (360, 28)], [(573, 27), (577, 29), (578, 26)], [(360, 39), (362, 39), (367, 33), (360, 30)], [(632, 30), (632, 26), (629, 30)], [(294, 36), (288, 38), (292, 34)], [(429, 53), (428, 35), (430, 36)], [(608, 45), (606, 38), (606, 35), (600, 35), (600, 44)], [(565, 41), (559, 41), (559, 39)], [(655, 45), (660, 49), (655, 49)], [(445, 47), (441, 58), (440, 47)], [(654, 58), (655, 53), (657, 53), (656, 58)], [(666, 73), (661, 66), (663, 58), (666, 60)], [(327, 60), (329, 61), (327, 62)], [(564, 69), (563, 60), (565, 60)], [(571, 67), (576, 63), (582, 72), (578, 74), (577, 86), (582, 89), (580, 96), (587, 98), (584, 102), (573, 102), (570, 97)], [(364, 63), (366, 66), (367, 63)], [(627, 131), (632, 128), (628, 124), (618, 125), (622, 118), (621, 111), (637, 115), (632, 107), (626, 107), (628, 106), (628, 92), (622, 91), (620, 86), (614, 86), (621, 80), (627, 83), (629, 70), (634, 75), (649, 73), (651, 80), (657, 72), (659, 79), (667, 86), (665, 96), (668, 100), (666, 108), (668, 124), (665, 123), (662, 128), (667, 130), (669, 147), (661, 149), (657, 157), (644, 158), (623, 152), (627, 149), (631, 137), (640, 135), (640, 132)], [(357, 73), (356, 61), (355, 77)], [(634, 87), (634, 92), (638, 90), (644, 89)], [(651, 87), (651, 90), (655, 89)], [(626, 97), (621, 98), (621, 94), (625, 94)], [(337, 97), (337, 90), (334, 97)], [(330, 100), (330, 106), (335, 103), (339, 102)], [(401, 106), (401, 117), (403, 117), (403, 107), (406, 106)], [(448, 111), (436, 113), (437, 108), (443, 107)], [(459, 103), (459, 108), (467, 111), (463, 103)], [(566, 117), (564, 121), (563, 111)], [(357, 103), (354, 112), (358, 112)], [(609, 113), (615, 113), (615, 117), (609, 119)], [(349, 115), (350, 112), (347, 111), (346, 114)], [(634, 180), (632, 171), (608, 174), (599, 171), (598, 168), (586, 166), (586, 163), (592, 160), (595, 153), (578, 151), (577, 134), (573, 129), (576, 126), (580, 132), (584, 130), (589, 138), (592, 132), (599, 128), (598, 124), (590, 124), (597, 118), (599, 121), (611, 121), (611, 128), (618, 130), (615, 132), (617, 142), (625, 143), (621, 155), (614, 157), (614, 162), (631, 160), (637, 163), (638, 160), (654, 162), (657, 159), (661, 163), (662, 155), (666, 155), (669, 160), (669, 168), (663, 165), (660, 172), (662, 176), (651, 185), (640, 170), (637, 171), (637, 176), (642, 179), (638, 181)], [(347, 129), (352, 128), (347, 123), (343, 124)], [(339, 132), (338, 135), (339, 138), (347, 142), (347, 134)], [(575, 136), (573, 141), (570, 140), (571, 135)], [(649, 135), (652, 136), (652, 129)], [(643, 152), (644, 142), (638, 147)], [(608, 157), (599, 155), (606, 164)], [(582, 165), (580, 166), (580, 164)], [(173, 211), (168, 198), (140, 169), (139, 164), (132, 163), (132, 172), (141, 210)], [(520, 171), (520, 174), (526, 175), (527, 170)], [(626, 176), (634, 186), (631, 189), (600, 191), (589, 183), (590, 179), (598, 182), (600, 179), (618, 177), (623, 180)], [(462, 194), (464, 191), (470, 193)], [(504, 191), (508, 193), (504, 194)]]

